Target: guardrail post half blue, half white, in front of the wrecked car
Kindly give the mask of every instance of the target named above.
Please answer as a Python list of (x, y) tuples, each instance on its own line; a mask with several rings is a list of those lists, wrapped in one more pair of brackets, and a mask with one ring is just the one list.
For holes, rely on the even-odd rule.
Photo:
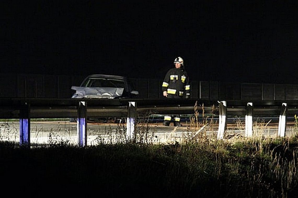
[(87, 145), (87, 103), (80, 101), (77, 109), (77, 140), (79, 146)]

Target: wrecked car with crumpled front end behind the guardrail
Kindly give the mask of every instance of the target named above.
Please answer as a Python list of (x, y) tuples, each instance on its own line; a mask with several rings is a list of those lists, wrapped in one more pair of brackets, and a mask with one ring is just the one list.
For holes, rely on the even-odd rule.
[[(139, 91), (134, 90), (133, 83), (125, 76), (93, 74), (86, 77), (80, 86), (72, 86), (75, 93), (72, 98), (121, 99), (136, 98)], [(113, 118), (114, 122), (116, 118)], [(103, 121), (89, 118), (89, 121)], [(105, 119), (105, 122), (111, 118)], [(76, 121), (71, 118), (70, 121)]]

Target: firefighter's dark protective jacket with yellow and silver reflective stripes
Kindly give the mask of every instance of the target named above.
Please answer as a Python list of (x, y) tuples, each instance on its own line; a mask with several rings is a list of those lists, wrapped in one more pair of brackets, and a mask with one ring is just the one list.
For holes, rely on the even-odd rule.
[(164, 77), (162, 91), (173, 96), (190, 98), (190, 82), (187, 72), (183, 68), (172, 68)]

